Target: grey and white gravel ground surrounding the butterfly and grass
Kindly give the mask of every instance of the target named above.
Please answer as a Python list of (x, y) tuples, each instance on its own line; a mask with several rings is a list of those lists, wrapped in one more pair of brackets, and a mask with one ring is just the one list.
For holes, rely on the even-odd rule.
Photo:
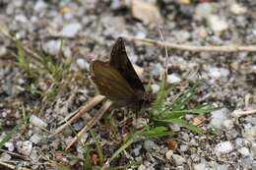
[[(61, 84), (62, 92), (53, 99), (49, 95), (38, 97), (36, 90), (46, 91), (51, 78), (40, 76), (28, 90), (31, 78), (16, 64), (15, 43), (0, 36), (0, 139), (21, 122), (24, 110), (32, 114), (29, 127), (4, 144), (0, 160), (32, 169), (57, 169), (56, 162), (74, 169), (82, 167), (78, 159), (83, 158), (82, 144), (94, 142), (91, 136), (85, 134), (81, 142), (63, 152), (73, 132), (66, 130), (51, 138), (48, 132), (94, 96), (94, 86), (88, 80), (90, 62), (108, 59), (118, 36), (160, 40), (160, 29), (165, 40), (173, 43), (206, 46), (256, 43), (254, 0), (186, 2), (189, 1), (151, 0), (159, 13), (153, 11), (156, 16), (145, 19), (136, 16), (128, 1), (125, 4), (119, 0), (1, 0), (2, 28), (10, 30), (24, 46), (52, 58), (59, 54), (64, 39), (61, 57), (63, 61), (72, 59), (72, 64), (71, 76), (65, 77)], [(152, 87), (157, 91), (164, 50), (134, 41), (126, 41), (126, 45), (131, 61), (143, 68), (145, 77), (154, 76)], [(177, 142), (175, 150), (168, 149), (168, 138), (142, 139), (128, 147), (112, 165), (140, 161), (135, 169), (256, 169), (256, 114), (237, 115), (239, 110), (256, 109), (255, 53), (169, 50), (168, 84), (187, 80), (197, 69), (201, 77), (196, 81), (203, 82), (200, 88), (204, 91), (198, 102), (222, 107), (212, 112), (202, 127), (215, 130), (216, 135), (197, 136), (173, 126), (177, 133), (172, 139)], [(73, 130), (79, 132), (89, 119), (83, 117), (77, 121), (72, 125)], [(105, 154), (110, 156), (116, 147), (108, 143), (105, 126), (98, 124), (94, 131), (105, 145)], [(71, 158), (75, 156), (78, 158)]]

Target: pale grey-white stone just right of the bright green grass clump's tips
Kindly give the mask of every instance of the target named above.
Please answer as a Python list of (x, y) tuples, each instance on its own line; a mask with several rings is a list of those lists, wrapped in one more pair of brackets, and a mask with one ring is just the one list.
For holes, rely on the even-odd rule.
[(212, 112), (210, 126), (221, 129), (224, 126), (224, 121), (227, 120), (228, 110), (226, 108)]

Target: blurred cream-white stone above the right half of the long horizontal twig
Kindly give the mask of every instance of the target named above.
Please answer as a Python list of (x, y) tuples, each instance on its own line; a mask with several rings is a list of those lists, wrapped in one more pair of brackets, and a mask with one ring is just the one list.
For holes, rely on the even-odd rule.
[(208, 25), (215, 32), (222, 32), (228, 28), (227, 23), (224, 19), (221, 19), (219, 16), (210, 15), (207, 17)]

